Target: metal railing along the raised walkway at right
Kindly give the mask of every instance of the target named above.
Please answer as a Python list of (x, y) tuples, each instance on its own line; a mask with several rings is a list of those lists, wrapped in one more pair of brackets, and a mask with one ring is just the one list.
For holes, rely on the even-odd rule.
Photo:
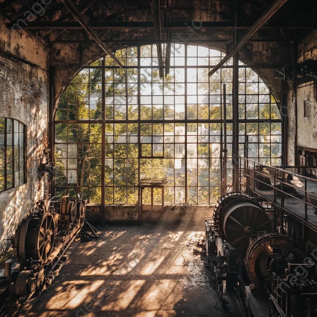
[(239, 162), (241, 191), (253, 191), (288, 213), (317, 226), (317, 179), (303, 175), (307, 175), (307, 167), (274, 167), (241, 157)]

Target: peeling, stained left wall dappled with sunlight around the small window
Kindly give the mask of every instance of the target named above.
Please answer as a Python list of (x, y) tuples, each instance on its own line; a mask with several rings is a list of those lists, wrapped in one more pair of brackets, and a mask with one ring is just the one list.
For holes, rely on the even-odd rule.
[(48, 147), (48, 49), (27, 31), (7, 31), (0, 17), (0, 117), (27, 127), (27, 183), (0, 193), (0, 252), (43, 194), (37, 177)]

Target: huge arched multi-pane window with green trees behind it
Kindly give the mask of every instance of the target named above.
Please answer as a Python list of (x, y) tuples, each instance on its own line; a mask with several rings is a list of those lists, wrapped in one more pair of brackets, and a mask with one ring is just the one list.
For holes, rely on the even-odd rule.
[[(223, 53), (178, 44), (171, 53), (164, 78), (156, 45), (117, 51), (125, 69), (105, 57), (74, 77), (55, 117), (56, 196), (79, 192), (90, 203), (100, 204), (104, 195), (105, 204), (136, 204), (139, 180), (159, 178), (165, 181), (166, 204), (216, 201), (223, 83), (228, 182), (232, 178), (232, 64), (209, 77)], [(267, 86), (241, 62), (239, 134), (239, 155), (280, 164), (280, 112)]]

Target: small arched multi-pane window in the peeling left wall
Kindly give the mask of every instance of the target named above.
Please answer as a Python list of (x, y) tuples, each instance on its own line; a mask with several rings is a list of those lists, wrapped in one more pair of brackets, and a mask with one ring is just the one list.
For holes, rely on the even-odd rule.
[(21, 122), (0, 117), (0, 192), (24, 184), (24, 129)]

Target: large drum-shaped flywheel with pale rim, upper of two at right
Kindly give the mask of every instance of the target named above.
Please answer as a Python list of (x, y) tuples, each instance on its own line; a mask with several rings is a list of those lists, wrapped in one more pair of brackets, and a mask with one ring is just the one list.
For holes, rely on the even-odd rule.
[(221, 197), (214, 209), (214, 219), (217, 233), (241, 252), (248, 249), (249, 235), (273, 229), (264, 208), (241, 192)]

